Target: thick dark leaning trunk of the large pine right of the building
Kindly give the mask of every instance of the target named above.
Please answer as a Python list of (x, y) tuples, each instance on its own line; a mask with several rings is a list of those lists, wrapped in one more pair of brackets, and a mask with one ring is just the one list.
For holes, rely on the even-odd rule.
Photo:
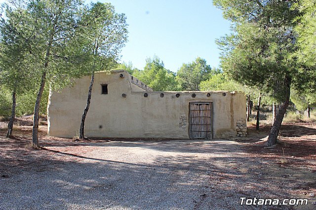
[[(289, 80), (288, 80), (289, 81)], [(288, 82), (289, 83), (289, 82)], [(290, 84), (286, 84), (286, 91), (285, 91), (285, 99), (282, 103), (279, 104), (278, 109), (276, 111), (276, 118), (273, 122), (268, 141), (267, 147), (271, 147), (272, 145), (276, 144), (277, 135), (281, 128), (282, 120), (284, 118), (284, 114), (290, 102)]]

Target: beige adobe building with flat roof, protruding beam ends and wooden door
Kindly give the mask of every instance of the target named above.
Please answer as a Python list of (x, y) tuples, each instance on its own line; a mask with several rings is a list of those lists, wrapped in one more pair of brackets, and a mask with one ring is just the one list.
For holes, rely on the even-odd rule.
[[(50, 91), (48, 135), (79, 134), (90, 76), (74, 87)], [(85, 119), (87, 137), (212, 139), (244, 136), (242, 92), (153, 91), (124, 70), (96, 72)]]

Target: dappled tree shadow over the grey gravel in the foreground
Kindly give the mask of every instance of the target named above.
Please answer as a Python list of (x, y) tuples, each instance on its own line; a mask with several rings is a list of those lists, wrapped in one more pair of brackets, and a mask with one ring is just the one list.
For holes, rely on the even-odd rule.
[[(267, 176), (263, 179), (259, 172), (239, 170), (244, 162), (250, 161), (253, 169), (256, 166), (252, 160), (240, 158), (234, 152), (231, 152), (232, 157), (215, 159), (207, 155), (200, 158), (158, 155), (149, 164), (115, 162), (65, 152), (46, 155), (45, 152), (47, 150), (34, 154), (36, 163), (23, 166), (19, 175), (1, 180), (2, 207), (257, 209), (239, 206), (239, 197), (290, 198), (287, 190), (293, 186), (280, 188), (279, 178), (271, 180), (268, 172), (262, 175)], [(259, 161), (256, 164), (268, 163)]]

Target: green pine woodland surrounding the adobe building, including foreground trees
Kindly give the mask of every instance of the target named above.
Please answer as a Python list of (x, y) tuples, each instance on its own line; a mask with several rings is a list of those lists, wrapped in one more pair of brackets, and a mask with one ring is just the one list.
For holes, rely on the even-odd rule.
[[(128, 36), (126, 17), (110, 3), (7, 0), (0, 16), (2, 120), (12, 126), (15, 116), (34, 115), (36, 133), (39, 115), (46, 115), (49, 88), (61, 90), (73, 85), (74, 78), (91, 75), (84, 125), (94, 72), (124, 69), (153, 90), (243, 91), (248, 121), (273, 122), (270, 146), (284, 116), (288, 121), (315, 121), (316, 1), (213, 4), (232, 23), (232, 33), (216, 40), (222, 52), (220, 68), (197, 57), (173, 72), (156, 55), (149, 55), (143, 69), (119, 63)], [(36, 140), (34, 135), (34, 144)]]

